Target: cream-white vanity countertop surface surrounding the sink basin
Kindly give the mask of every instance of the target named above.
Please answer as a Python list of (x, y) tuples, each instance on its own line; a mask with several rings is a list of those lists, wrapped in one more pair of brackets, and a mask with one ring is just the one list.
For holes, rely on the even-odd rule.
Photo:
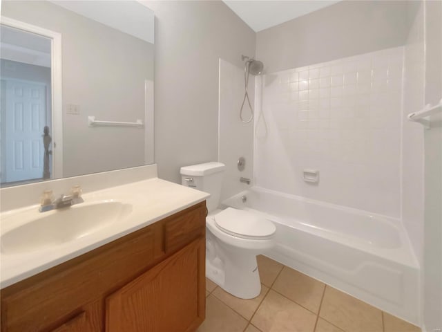
[[(177, 185), (160, 178), (128, 183), (83, 194), (84, 203), (92, 201), (119, 201), (132, 205), (132, 211), (122, 221), (117, 221), (97, 232), (88, 234), (74, 241), (47, 246), (39, 250), (24, 253), (0, 253), (0, 287), (15, 284), (41, 271), (78, 257), (90, 250), (103, 246), (119, 237), (144, 228), (170, 216), (175, 212), (189, 208), (204, 201), (209, 194)], [(84, 204), (81, 203), (81, 204)], [(79, 205), (81, 205), (79, 204)], [(61, 210), (38, 212), (39, 205), (10, 210), (1, 213), (1, 234), (17, 228), (23, 223), (11, 218), (18, 213), (41, 216), (46, 213), (63, 213)], [(60, 218), (60, 222), (63, 222)], [(14, 223), (8, 222), (15, 220)], [(93, 220), (91, 220), (93, 222)]]

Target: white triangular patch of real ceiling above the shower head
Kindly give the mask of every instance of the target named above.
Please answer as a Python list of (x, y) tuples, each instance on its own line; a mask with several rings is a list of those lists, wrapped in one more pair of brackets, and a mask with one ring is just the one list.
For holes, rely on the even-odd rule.
[(255, 32), (277, 26), (340, 0), (223, 0)]

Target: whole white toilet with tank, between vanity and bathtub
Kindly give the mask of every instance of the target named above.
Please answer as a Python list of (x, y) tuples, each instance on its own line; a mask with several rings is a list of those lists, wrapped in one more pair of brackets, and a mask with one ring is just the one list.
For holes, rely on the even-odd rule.
[(274, 245), (276, 227), (248, 211), (217, 210), (224, 169), (215, 162), (181, 167), (182, 184), (211, 194), (206, 201), (206, 277), (236, 297), (252, 299), (261, 292), (256, 255)]

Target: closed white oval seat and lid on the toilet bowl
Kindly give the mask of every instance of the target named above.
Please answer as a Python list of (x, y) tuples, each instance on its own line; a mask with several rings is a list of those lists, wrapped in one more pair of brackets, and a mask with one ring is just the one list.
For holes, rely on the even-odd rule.
[(227, 208), (213, 216), (216, 227), (242, 239), (269, 239), (276, 232), (273, 223), (251, 212)]

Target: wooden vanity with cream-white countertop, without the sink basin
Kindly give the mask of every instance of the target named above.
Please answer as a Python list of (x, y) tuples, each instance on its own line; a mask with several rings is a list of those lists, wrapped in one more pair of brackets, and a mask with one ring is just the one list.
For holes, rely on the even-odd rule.
[[(49, 248), (45, 255), (41, 252), (46, 249), (10, 253), (2, 248), (1, 331), (191, 332), (198, 328), (205, 311), (204, 199), (208, 195), (151, 178), (83, 196), (85, 202), (100, 201), (119, 192), (115, 197), (124, 200), (126, 191), (133, 193), (133, 199), (126, 198), (132, 210), (124, 222), (89, 235), (89, 246), (83, 248), (83, 242), (71, 259), (66, 259), (70, 256), (64, 250), (84, 239)], [(6, 225), (8, 212), (4, 216), (1, 222)], [(52, 259), (57, 251), (64, 257)], [(25, 264), (26, 255), (34, 255), (26, 268), (15, 264), (17, 259)], [(31, 261), (42, 271), (35, 273)], [(34, 272), (23, 277), (27, 270)]]

